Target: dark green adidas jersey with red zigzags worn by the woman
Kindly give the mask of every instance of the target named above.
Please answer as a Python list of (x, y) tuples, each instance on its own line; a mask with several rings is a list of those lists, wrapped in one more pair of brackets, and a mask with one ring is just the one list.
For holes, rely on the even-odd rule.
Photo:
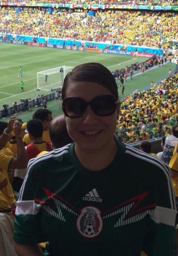
[(104, 170), (85, 169), (74, 144), (31, 159), (14, 240), (48, 241), (54, 256), (174, 255), (176, 201), (168, 166), (117, 142)]

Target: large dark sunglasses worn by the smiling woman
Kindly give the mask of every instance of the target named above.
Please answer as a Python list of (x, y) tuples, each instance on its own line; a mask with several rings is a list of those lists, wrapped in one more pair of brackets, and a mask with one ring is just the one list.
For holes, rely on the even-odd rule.
[(88, 105), (97, 116), (110, 116), (116, 110), (117, 100), (112, 94), (99, 95), (90, 102), (79, 97), (70, 97), (63, 100), (62, 109), (65, 116), (77, 118), (84, 114)]

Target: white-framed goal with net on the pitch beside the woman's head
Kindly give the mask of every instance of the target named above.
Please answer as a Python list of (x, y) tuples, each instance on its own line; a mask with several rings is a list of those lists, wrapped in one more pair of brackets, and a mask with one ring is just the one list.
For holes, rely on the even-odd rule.
[(54, 90), (63, 84), (64, 77), (74, 67), (61, 66), (37, 72), (37, 90)]

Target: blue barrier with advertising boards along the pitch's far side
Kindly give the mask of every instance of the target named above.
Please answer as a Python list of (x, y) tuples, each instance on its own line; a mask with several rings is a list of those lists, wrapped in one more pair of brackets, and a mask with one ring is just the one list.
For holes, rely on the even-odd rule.
[[(0, 42), (11, 43), (19, 45), (31, 45), (40, 47), (49, 47), (56, 49), (66, 49), (66, 50), (78, 50), (78, 51), (88, 51), (88, 52), (104, 52), (109, 54), (124, 54), (142, 57), (151, 57), (152, 55), (163, 55), (163, 49), (158, 49), (156, 47), (142, 47), (139, 45), (127, 45), (126, 51), (123, 50), (123, 44), (112, 44), (112, 42), (99, 43), (90, 41), (70, 41), (60, 38), (49, 38), (48, 43), (45, 42), (45, 37), (32, 37), (17, 35), (16, 39), (10, 34), (1, 35)], [(135, 51), (136, 50), (136, 51)]]

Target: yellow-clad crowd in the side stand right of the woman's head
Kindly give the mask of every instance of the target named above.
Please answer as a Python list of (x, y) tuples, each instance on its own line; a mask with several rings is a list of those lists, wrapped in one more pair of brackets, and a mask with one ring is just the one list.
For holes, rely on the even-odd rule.
[(135, 91), (122, 101), (116, 136), (126, 143), (171, 134), (178, 125), (178, 73), (147, 91)]

